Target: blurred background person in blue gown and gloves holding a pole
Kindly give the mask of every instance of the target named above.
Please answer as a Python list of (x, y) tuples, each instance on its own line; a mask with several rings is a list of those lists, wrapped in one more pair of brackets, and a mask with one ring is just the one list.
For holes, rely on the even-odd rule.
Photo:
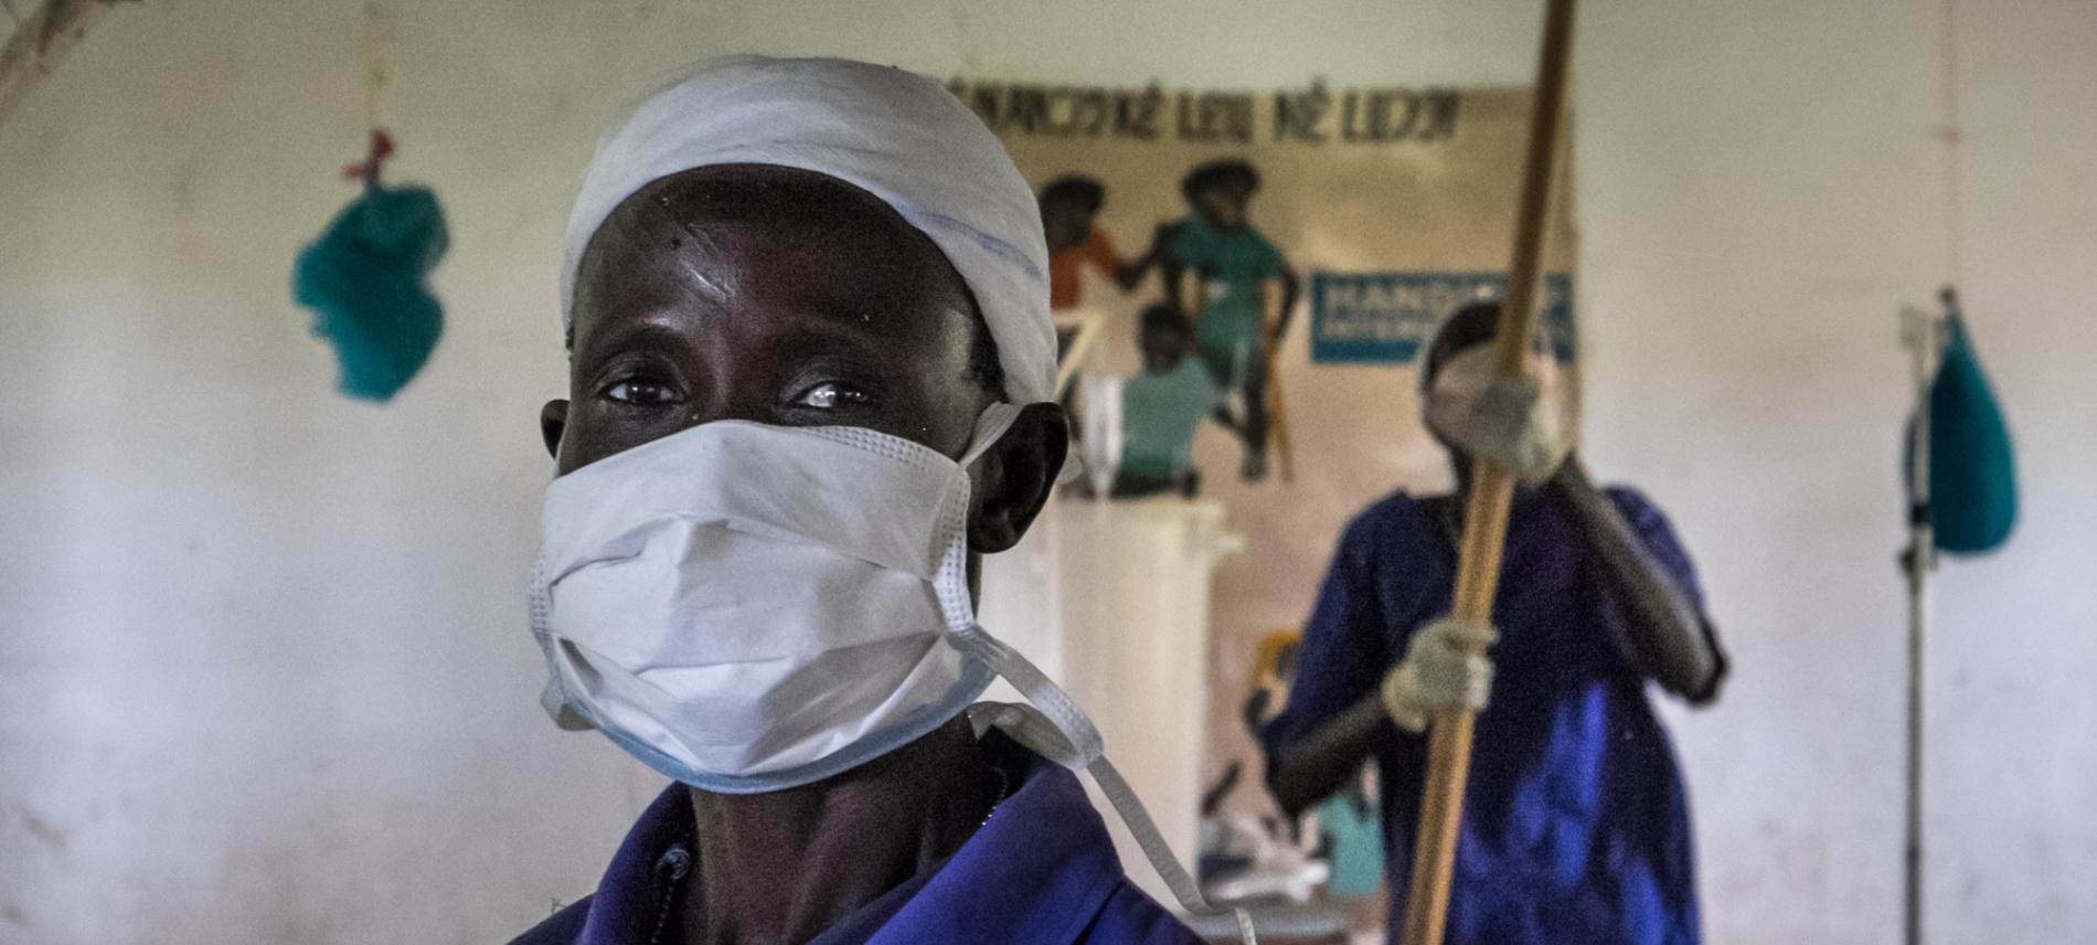
[[(1468, 306), (1428, 348), (1426, 425), (1457, 492), (1392, 492), (1340, 536), (1288, 708), (1264, 731), (1267, 782), (1294, 815), (1378, 763), (1397, 941), (1426, 721), (1476, 708), (1447, 941), (1690, 945), (1688, 807), (1646, 681), (1705, 704), (1726, 658), (1661, 511), (1629, 488), (1598, 490), (1569, 455), (1550, 356), (1531, 358), (1529, 379), (1495, 377), (1497, 321), (1497, 306)], [(1520, 482), (1497, 627), (1443, 616), (1476, 455)], [(1476, 685), (1480, 643), (1489, 691)]]

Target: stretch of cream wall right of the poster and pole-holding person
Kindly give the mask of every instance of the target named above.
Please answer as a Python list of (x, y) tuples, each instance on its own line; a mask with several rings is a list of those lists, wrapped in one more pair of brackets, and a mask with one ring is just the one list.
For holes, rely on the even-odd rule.
[[(2087, 941), (2097, 6), (1965, 6), (1965, 298), (2026, 513), (1940, 572), (1933, 941)], [(1673, 511), (1736, 660), (1724, 708), (1676, 725), (1728, 941), (1898, 920), (1889, 312), (1944, 279), (1938, 25), (1938, 4), (1594, 4), (1581, 50), (1594, 453)]]

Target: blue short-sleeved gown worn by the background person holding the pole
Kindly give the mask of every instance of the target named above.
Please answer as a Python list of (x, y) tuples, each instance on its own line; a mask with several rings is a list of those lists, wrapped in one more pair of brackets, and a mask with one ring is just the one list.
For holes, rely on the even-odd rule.
[[(1646, 549), (1703, 612), (1667, 520), (1613, 488)], [(1449, 499), (1395, 492), (1348, 524), (1304, 629), (1269, 759), (1369, 696), (1455, 591)], [(1577, 522), (1541, 492), (1508, 520), (1491, 706), (1478, 715), (1449, 897), (1451, 945), (1694, 945), (1688, 805), (1667, 733), (1625, 660), (1625, 622)], [(1709, 633), (1709, 622), (1705, 624)], [(1403, 928), (1426, 738), (1378, 752), (1390, 928)], [(1395, 939), (1392, 939), (1395, 941)]]

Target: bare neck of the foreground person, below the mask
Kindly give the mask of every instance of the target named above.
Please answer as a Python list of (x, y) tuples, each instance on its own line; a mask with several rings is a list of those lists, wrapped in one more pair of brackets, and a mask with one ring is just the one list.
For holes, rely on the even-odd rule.
[(684, 891), (684, 941), (809, 941), (958, 851), (1002, 792), (967, 717), (809, 786), (692, 788), (698, 870)]

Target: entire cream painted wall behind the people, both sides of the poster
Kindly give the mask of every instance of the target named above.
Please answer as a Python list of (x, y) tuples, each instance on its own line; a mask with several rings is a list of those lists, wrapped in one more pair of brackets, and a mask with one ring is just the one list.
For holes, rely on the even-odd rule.
[[(656, 779), (535, 706), (554, 260), (617, 103), (692, 57), (1267, 86), (1522, 82), (1535, 2), (398, 2), (390, 124), (455, 251), (388, 409), (285, 302), (350, 195), (359, 2), (109, 15), (0, 126), (0, 941), (501, 941)], [(2097, 939), (2097, 6), (1967, 4), (1967, 298), (2028, 515), (1946, 566), (1938, 941)], [(1587, 4), (1594, 465), (1736, 658), (1671, 715), (1717, 943), (1898, 916), (1894, 304), (1942, 279), (1938, 10)], [(1309, 597), (1309, 589), (1306, 589)], [(1302, 603), (1309, 606), (1309, 599)], [(1302, 608), (1294, 608), (1302, 610)]]

